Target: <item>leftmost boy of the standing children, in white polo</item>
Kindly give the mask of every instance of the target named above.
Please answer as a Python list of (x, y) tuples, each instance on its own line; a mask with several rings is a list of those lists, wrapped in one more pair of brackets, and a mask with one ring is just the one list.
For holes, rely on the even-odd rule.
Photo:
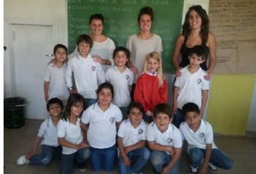
[(69, 98), (69, 90), (65, 85), (65, 72), (67, 69), (68, 49), (65, 45), (57, 44), (53, 49), (54, 59), (47, 65), (45, 73), (45, 101), (51, 98), (59, 98), (64, 105)]

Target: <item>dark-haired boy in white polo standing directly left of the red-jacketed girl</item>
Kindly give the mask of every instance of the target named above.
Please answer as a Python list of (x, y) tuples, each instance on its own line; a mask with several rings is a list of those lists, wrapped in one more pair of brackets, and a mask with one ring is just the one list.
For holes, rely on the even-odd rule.
[(114, 87), (113, 103), (122, 111), (123, 119), (127, 119), (127, 109), (130, 104), (130, 92), (134, 83), (134, 74), (128, 67), (130, 51), (125, 47), (117, 47), (113, 52), (115, 66), (106, 71), (106, 81)]

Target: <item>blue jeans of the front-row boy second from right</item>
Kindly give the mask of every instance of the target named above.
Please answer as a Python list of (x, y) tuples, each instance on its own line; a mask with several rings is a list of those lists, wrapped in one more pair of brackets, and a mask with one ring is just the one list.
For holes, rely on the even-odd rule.
[[(162, 151), (151, 151), (150, 162), (156, 173), (161, 173), (163, 168), (171, 162), (171, 156)], [(180, 174), (180, 159), (171, 168), (169, 174)]]

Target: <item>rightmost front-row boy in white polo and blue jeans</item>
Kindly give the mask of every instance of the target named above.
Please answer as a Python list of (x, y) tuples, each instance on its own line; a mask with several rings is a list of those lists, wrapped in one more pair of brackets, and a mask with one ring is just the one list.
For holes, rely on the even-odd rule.
[(215, 146), (211, 124), (201, 119), (197, 104), (186, 103), (182, 110), (186, 122), (179, 129), (188, 144), (190, 173), (198, 174), (203, 158), (201, 174), (207, 174), (208, 168), (211, 172), (216, 172), (217, 167), (231, 169), (233, 160)]

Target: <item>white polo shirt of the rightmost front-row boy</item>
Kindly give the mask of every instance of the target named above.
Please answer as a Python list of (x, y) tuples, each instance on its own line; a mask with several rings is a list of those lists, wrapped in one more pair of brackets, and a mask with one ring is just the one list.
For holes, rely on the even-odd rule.
[(191, 130), (187, 122), (182, 122), (179, 126), (183, 138), (187, 141), (187, 151), (193, 147), (206, 149), (206, 144), (212, 144), (212, 149), (217, 148), (213, 141), (213, 130), (211, 124), (201, 119), (201, 124), (198, 130)]

